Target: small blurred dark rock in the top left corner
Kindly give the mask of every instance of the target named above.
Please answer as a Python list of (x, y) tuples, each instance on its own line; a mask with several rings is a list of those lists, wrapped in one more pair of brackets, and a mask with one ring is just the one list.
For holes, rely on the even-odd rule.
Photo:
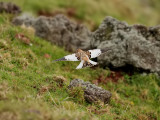
[(19, 14), (21, 9), (19, 6), (11, 2), (0, 2), (0, 13), (10, 13), (10, 14)]

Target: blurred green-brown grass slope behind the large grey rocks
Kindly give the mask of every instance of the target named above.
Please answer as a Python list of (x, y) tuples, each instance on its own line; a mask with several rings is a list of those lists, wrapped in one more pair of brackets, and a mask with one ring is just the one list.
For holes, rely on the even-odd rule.
[(37, 15), (61, 12), (95, 30), (105, 16), (113, 16), (129, 24), (155, 26), (160, 22), (159, 0), (0, 0), (18, 4), (23, 11)]

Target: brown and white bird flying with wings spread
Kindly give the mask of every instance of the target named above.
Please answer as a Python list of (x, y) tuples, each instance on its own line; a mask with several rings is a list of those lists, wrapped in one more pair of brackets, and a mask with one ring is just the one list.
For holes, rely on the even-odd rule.
[(111, 49), (93, 49), (88, 51), (83, 51), (81, 49), (77, 49), (76, 53), (64, 56), (63, 58), (56, 59), (53, 62), (56, 61), (81, 61), (80, 64), (77, 66), (76, 69), (81, 69), (84, 67), (92, 67), (94, 65), (97, 65), (97, 62), (94, 62), (90, 60), (91, 58), (96, 58), (100, 56), (102, 53), (107, 52)]

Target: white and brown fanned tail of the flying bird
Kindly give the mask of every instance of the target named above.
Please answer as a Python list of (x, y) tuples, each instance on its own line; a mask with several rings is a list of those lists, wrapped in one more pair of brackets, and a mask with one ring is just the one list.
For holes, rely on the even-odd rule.
[(81, 69), (81, 68), (85, 68), (85, 67), (92, 67), (94, 65), (97, 65), (97, 62), (94, 62), (92, 60), (89, 60), (89, 62), (81, 61), (76, 69)]

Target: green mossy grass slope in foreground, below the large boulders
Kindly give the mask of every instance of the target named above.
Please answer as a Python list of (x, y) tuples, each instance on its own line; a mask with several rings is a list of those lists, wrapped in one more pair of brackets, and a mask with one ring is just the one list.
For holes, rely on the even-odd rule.
[[(34, 2), (24, 8), (42, 4)], [(0, 119), (160, 119), (160, 79), (156, 75), (123, 73), (117, 82), (100, 82), (99, 86), (112, 93), (111, 102), (89, 104), (80, 100), (80, 90), (68, 90), (69, 82), (74, 78), (94, 82), (100, 76), (105, 81), (111, 72), (99, 67), (76, 70), (78, 62), (52, 63), (69, 53), (34, 36), (27, 28), (12, 25), (11, 18), (8, 14), (0, 15)], [(32, 46), (17, 39), (19, 33), (27, 36)], [(57, 78), (62, 79), (63, 85)], [(74, 93), (79, 96), (74, 97)]]

